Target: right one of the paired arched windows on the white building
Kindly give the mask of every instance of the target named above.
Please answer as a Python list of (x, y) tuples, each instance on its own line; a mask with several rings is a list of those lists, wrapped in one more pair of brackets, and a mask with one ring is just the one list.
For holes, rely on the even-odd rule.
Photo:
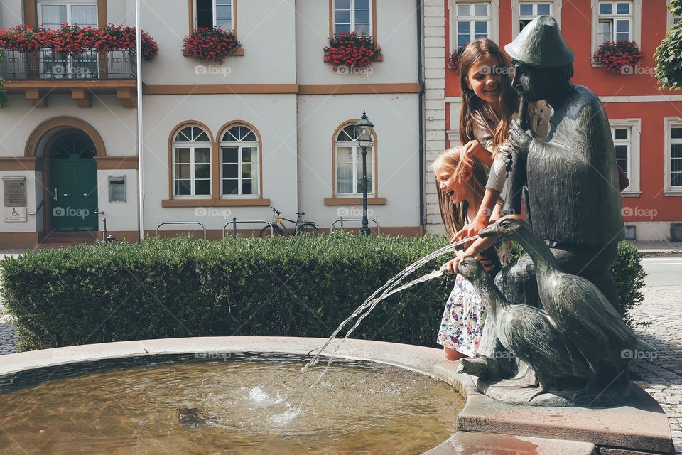
[(259, 142), (244, 125), (229, 127), (220, 141), (221, 196), (258, 196)]

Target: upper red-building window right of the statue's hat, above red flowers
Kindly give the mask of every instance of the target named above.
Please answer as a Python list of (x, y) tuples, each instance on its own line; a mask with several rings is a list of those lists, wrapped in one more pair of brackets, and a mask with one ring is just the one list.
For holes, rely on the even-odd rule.
[[(642, 41), (642, 0), (592, 0), (592, 54), (606, 41)], [(592, 62), (592, 66), (599, 66)]]

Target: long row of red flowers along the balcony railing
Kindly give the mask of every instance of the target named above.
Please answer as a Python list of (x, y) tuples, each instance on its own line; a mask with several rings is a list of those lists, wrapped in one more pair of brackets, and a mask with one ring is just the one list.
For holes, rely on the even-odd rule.
[[(158, 44), (146, 31), (141, 31), (142, 58), (151, 61), (158, 54)], [(18, 25), (0, 30), (0, 48), (20, 53), (37, 53), (52, 49), (60, 55), (77, 55), (87, 50), (106, 53), (113, 50), (136, 49), (136, 28), (114, 26), (79, 27), (63, 24), (47, 30), (43, 27)]]

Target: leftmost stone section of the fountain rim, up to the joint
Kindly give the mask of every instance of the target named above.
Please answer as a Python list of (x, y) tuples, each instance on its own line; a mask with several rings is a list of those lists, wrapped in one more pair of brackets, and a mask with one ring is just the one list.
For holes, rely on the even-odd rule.
[(90, 362), (107, 358), (147, 355), (138, 341), (87, 344), (43, 350), (31, 350), (0, 356), (0, 376), (34, 368), (64, 365), (65, 363)]

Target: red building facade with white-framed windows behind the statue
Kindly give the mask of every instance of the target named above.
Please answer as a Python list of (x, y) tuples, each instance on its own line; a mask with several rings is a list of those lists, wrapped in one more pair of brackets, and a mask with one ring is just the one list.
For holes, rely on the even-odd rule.
[[(631, 182), (622, 192), (626, 235), (682, 241), (682, 95), (659, 90), (654, 52), (673, 18), (666, 0), (445, 1), (445, 53), (475, 38), (504, 48), (538, 14), (554, 16), (575, 53), (573, 82), (589, 87), (610, 119), (617, 162)], [(639, 44), (639, 67), (613, 73), (592, 63), (603, 41)], [(445, 70), (445, 145), (459, 145), (459, 73)]]

